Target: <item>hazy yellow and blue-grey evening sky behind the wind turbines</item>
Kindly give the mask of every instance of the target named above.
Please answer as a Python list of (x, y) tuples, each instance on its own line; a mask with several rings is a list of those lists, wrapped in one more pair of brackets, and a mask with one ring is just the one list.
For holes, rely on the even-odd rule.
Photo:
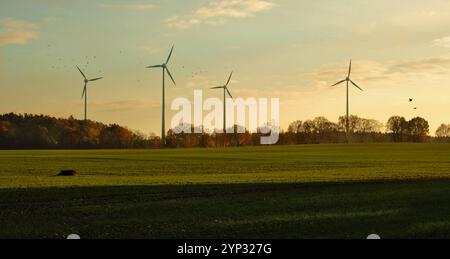
[[(234, 71), (234, 97), (280, 98), (281, 126), (350, 111), (450, 123), (448, 0), (0, 0), (0, 113), (89, 118), (159, 134), (161, 64), (175, 44), (167, 107)], [(409, 103), (409, 98), (414, 102)], [(417, 109), (414, 109), (417, 108)], [(172, 115), (168, 113), (168, 118)], [(169, 120), (169, 119), (168, 119)]]

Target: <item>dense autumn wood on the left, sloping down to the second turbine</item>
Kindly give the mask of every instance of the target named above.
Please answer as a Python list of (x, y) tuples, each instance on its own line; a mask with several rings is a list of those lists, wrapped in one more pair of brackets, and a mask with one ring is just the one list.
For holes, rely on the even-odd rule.
[(116, 124), (105, 125), (73, 117), (44, 115), (0, 116), (2, 149), (91, 149), (158, 147), (161, 141)]

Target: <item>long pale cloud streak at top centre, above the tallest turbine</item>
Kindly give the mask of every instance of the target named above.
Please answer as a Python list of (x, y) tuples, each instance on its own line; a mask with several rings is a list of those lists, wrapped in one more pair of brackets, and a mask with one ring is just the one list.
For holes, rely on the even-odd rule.
[(249, 18), (271, 10), (277, 4), (270, 0), (223, 0), (210, 2), (188, 16), (173, 16), (164, 21), (169, 28), (187, 29), (199, 24), (220, 25), (230, 18)]

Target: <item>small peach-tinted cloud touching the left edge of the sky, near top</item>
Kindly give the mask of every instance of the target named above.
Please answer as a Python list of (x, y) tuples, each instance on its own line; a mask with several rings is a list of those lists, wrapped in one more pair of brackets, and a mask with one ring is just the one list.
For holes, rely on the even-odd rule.
[(24, 45), (38, 37), (38, 26), (34, 23), (6, 18), (0, 20), (0, 47)]

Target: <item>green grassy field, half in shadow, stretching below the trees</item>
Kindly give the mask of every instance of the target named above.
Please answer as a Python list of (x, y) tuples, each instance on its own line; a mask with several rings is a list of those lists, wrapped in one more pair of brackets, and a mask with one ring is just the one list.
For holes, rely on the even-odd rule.
[(0, 238), (70, 233), (450, 238), (450, 145), (0, 151)]

